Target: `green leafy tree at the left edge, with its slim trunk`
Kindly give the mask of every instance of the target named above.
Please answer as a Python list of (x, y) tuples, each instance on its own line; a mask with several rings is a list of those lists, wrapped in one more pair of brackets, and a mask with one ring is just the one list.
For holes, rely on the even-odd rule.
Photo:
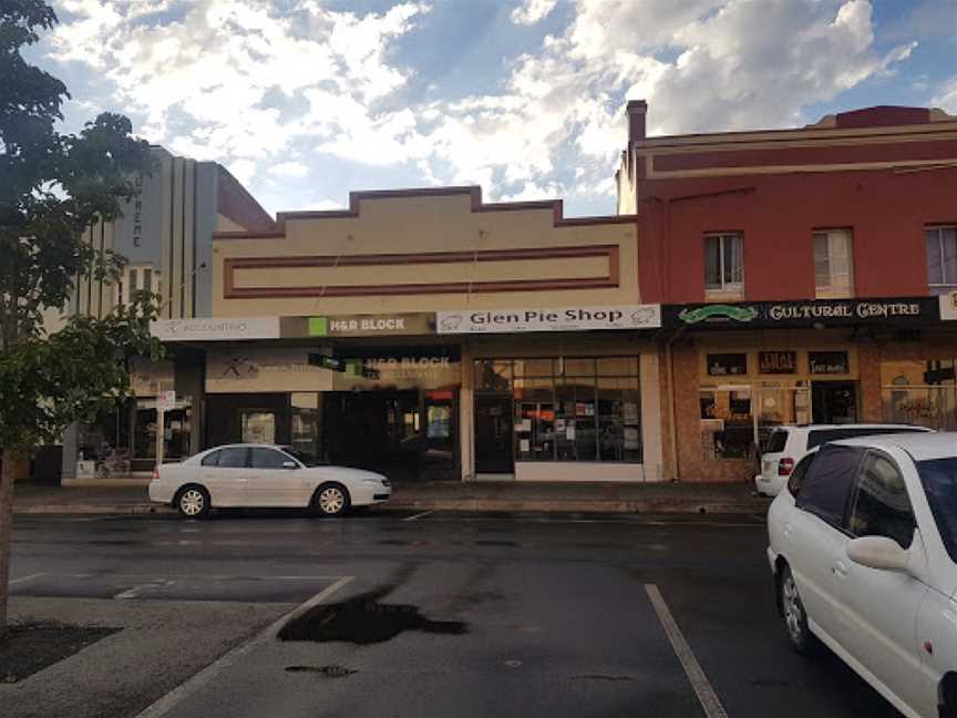
[(73, 316), (48, 334), (43, 311), (69, 304), (76, 277), (113, 281), (125, 260), (83, 240), (121, 215), (150, 147), (130, 121), (104, 113), (61, 134), (62, 82), (22, 49), (58, 22), (42, 0), (0, 0), (0, 632), (7, 597), (13, 465), (38, 442), (114, 404), (128, 389), (128, 358), (157, 357), (154, 297), (141, 294), (103, 319)]

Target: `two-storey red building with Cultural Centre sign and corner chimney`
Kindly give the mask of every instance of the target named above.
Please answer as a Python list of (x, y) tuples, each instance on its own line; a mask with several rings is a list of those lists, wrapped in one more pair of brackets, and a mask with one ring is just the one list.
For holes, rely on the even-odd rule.
[(618, 211), (637, 216), (642, 300), (671, 305), (672, 475), (745, 479), (780, 423), (957, 428), (957, 332), (935, 297), (957, 290), (957, 117), (881, 106), (648, 137), (647, 111), (628, 105)]

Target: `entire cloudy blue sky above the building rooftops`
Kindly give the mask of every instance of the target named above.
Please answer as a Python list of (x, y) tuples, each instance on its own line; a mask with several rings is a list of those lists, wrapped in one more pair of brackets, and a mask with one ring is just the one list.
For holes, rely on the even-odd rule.
[(625, 104), (650, 135), (957, 113), (957, 0), (52, 0), (29, 58), (63, 129), (99, 112), (225, 165), (270, 213), (477, 184), (615, 213)]

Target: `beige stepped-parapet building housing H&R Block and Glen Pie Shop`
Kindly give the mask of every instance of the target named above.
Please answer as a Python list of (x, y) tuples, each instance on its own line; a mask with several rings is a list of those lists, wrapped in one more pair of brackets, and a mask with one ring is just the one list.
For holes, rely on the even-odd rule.
[(400, 480), (665, 479), (634, 217), (363, 192), (213, 245), (208, 330), (165, 337), (205, 356), (207, 445)]

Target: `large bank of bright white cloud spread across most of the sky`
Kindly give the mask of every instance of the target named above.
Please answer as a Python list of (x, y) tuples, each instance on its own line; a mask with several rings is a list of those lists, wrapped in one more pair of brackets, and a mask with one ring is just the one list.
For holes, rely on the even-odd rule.
[[(610, 195), (628, 99), (648, 100), (654, 134), (800, 125), (816, 120), (805, 107), (889, 76), (915, 47), (902, 38), (878, 53), (868, 0), (569, 1), (568, 25), (506, 58), (495, 91), (454, 101), (441, 82), (428, 100), (397, 93), (414, 70), (395, 44), (429, 12), (411, 0), (379, 13), (319, 0), (60, 0), (75, 20), (56, 29), (54, 57), (111, 82), (150, 140), (244, 181), (305, 176), (295, 141), (503, 199)], [(556, 4), (515, 2), (512, 20), (538, 22)], [(157, 7), (176, 19), (151, 17)], [(957, 79), (935, 103), (955, 109)]]

